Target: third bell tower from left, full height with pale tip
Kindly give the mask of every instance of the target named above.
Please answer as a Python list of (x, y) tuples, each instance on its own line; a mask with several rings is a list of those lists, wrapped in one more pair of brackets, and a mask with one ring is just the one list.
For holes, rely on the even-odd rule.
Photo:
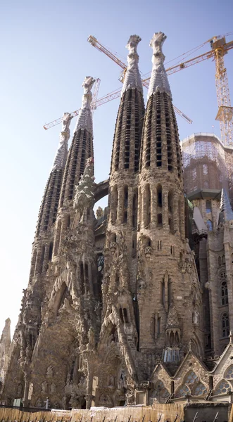
[[(135, 317), (137, 308), (134, 306), (137, 276), (137, 186), (144, 118), (144, 99), (137, 53), (139, 41), (141, 39), (138, 35), (132, 35), (127, 43), (128, 67), (113, 139), (109, 181), (110, 215), (106, 231), (105, 272), (102, 285), (103, 324), (99, 341), (101, 362), (96, 397), (105, 385), (114, 387), (117, 391), (116, 380), (125, 380), (125, 372), (128, 377), (137, 378), (135, 355), (138, 346), (138, 327)], [(115, 347), (116, 360), (114, 364), (108, 362), (106, 366), (103, 357), (108, 354), (109, 345)], [(118, 354), (119, 345), (124, 364)], [(119, 398), (119, 402), (121, 399)], [(99, 405), (104, 404), (101, 397), (97, 400)]]

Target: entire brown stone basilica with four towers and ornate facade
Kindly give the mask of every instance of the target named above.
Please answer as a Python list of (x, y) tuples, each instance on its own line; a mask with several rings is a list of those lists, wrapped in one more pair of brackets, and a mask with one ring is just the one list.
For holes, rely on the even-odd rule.
[[(11, 340), (6, 320), (0, 340), (1, 404), (44, 407), (49, 400), (50, 407), (89, 409), (231, 400), (226, 163), (233, 148), (201, 133), (180, 147), (165, 38), (151, 39), (146, 108), (141, 39), (127, 43), (108, 180), (94, 181), (92, 77), (84, 79), (69, 150), (71, 115), (63, 116), (18, 324)], [(108, 207), (95, 217), (94, 204), (107, 195)]]

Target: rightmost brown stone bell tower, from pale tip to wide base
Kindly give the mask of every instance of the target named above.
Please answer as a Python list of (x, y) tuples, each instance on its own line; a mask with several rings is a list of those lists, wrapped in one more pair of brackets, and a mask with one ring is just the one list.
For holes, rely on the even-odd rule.
[(175, 363), (190, 338), (201, 353), (201, 298), (184, 234), (182, 158), (163, 65), (165, 39), (158, 32), (150, 44), (153, 67), (139, 168), (137, 301), (139, 351)]

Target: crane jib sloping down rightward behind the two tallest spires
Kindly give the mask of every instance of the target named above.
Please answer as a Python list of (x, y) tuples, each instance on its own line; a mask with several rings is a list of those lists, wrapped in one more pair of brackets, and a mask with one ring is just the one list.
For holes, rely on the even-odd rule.
[[(122, 68), (123, 72), (122, 75), (120, 77), (120, 82), (124, 82), (125, 79), (125, 72), (127, 70), (127, 65), (125, 63), (122, 62), (122, 60), (120, 60), (120, 58), (118, 58), (117, 56), (115, 56), (115, 54), (112, 53), (112, 51), (108, 50), (105, 46), (103, 46), (103, 44), (101, 44), (98, 39), (96, 39), (96, 37), (94, 37), (93, 35), (89, 35), (87, 41), (95, 47), (95, 49), (101, 51), (101, 53), (106, 54), (106, 56), (108, 56), (109, 58), (111, 58), (111, 60), (113, 60), (115, 63), (117, 63), (117, 65), (120, 66), (120, 68)], [(143, 84), (144, 87), (146, 87), (147, 89), (149, 88), (149, 79), (141, 79), (141, 82)], [(111, 94), (110, 94), (111, 96)], [(120, 95), (119, 95), (120, 96)], [(116, 97), (115, 97), (116, 98)], [(109, 99), (109, 101), (111, 101), (113, 98), (111, 97)], [(103, 104), (103, 103), (102, 103)], [(100, 104), (99, 104), (100, 106)], [(187, 115), (185, 115), (181, 110), (179, 110), (179, 108), (174, 107), (175, 112), (180, 115), (181, 117), (183, 117), (184, 120), (186, 120), (189, 124), (191, 124), (193, 121), (191, 119), (189, 119), (189, 117)]]

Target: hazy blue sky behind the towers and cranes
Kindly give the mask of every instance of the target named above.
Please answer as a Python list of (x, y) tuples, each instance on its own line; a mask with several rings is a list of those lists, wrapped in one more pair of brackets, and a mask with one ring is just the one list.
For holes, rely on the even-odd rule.
[[(232, 32), (232, 12), (232, 0), (0, 2), (0, 335), (8, 316), (12, 328), (18, 319), (39, 205), (58, 145), (61, 128), (45, 131), (43, 124), (80, 108), (86, 75), (101, 79), (99, 97), (121, 85), (120, 68), (87, 43), (89, 34), (122, 60), (130, 34), (139, 34), (144, 74), (151, 70), (149, 41), (154, 32), (168, 37), (163, 48), (168, 63), (215, 35)], [(227, 41), (232, 39), (233, 33)], [(206, 44), (188, 58), (208, 50)], [(233, 96), (233, 50), (225, 64)], [(220, 135), (215, 122), (215, 63), (207, 60), (169, 79), (175, 106), (194, 120), (190, 125), (177, 117), (180, 139), (193, 132), (212, 132), (212, 125)], [(97, 182), (108, 177), (118, 104), (119, 100), (111, 101), (94, 113)]]

